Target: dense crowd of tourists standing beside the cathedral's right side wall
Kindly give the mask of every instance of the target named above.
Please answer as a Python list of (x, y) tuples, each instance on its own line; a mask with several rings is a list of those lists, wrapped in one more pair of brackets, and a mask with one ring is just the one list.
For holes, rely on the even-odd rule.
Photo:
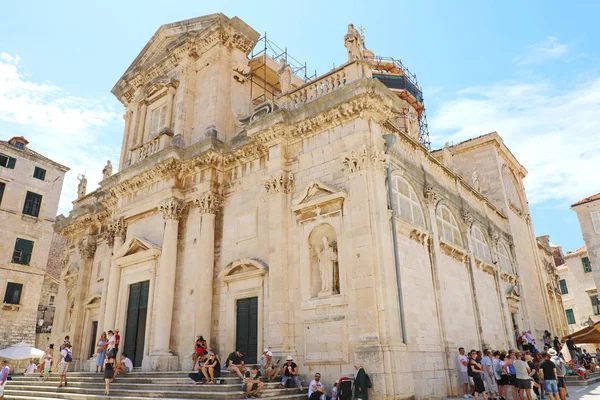
[(479, 399), (509, 398), (513, 400), (565, 400), (568, 396), (565, 376), (587, 379), (600, 360), (600, 349), (595, 357), (575, 346), (568, 337), (562, 342), (552, 339), (545, 331), (543, 349), (536, 347), (531, 331), (519, 332), (515, 326), (517, 349), (483, 351), (458, 349), (459, 379), (463, 397)]

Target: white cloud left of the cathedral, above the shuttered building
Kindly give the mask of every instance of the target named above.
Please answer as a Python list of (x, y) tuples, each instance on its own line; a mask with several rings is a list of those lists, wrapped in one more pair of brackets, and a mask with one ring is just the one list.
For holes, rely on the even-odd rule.
[(87, 173), (89, 192), (102, 179), (106, 159), (116, 164), (122, 120), (106, 100), (74, 96), (56, 85), (35, 82), (20, 70), (20, 61), (18, 55), (0, 53), (2, 139), (25, 136), (30, 148), (71, 168), (58, 211), (66, 214), (76, 198), (77, 175)]

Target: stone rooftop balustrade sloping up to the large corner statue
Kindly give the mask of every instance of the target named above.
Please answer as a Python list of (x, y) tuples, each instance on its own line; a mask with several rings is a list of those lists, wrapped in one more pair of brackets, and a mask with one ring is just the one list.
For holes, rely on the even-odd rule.
[(350, 61), (302, 86), (283, 93), (277, 103), (280, 108), (296, 109), (347, 86), (353, 81), (370, 77), (372, 77), (372, 73), (367, 61)]

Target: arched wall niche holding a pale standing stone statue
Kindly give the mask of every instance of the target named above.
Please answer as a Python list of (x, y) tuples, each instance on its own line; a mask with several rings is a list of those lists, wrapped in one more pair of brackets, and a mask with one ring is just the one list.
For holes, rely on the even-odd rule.
[(335, 230), (317, 226), (310, 235), (312, 248), (311, 295), (325, 297), (340, 293), (340, 271)]

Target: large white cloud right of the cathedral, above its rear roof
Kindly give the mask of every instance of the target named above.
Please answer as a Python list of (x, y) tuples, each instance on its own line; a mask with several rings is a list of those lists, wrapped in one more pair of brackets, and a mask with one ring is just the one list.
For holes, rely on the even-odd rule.
[(558, 93), (549, 82), (468, 88), (430, 117), (438, 144), (497, 131), (529, 171), (531, 203), (600, 191), (600, 78)]

